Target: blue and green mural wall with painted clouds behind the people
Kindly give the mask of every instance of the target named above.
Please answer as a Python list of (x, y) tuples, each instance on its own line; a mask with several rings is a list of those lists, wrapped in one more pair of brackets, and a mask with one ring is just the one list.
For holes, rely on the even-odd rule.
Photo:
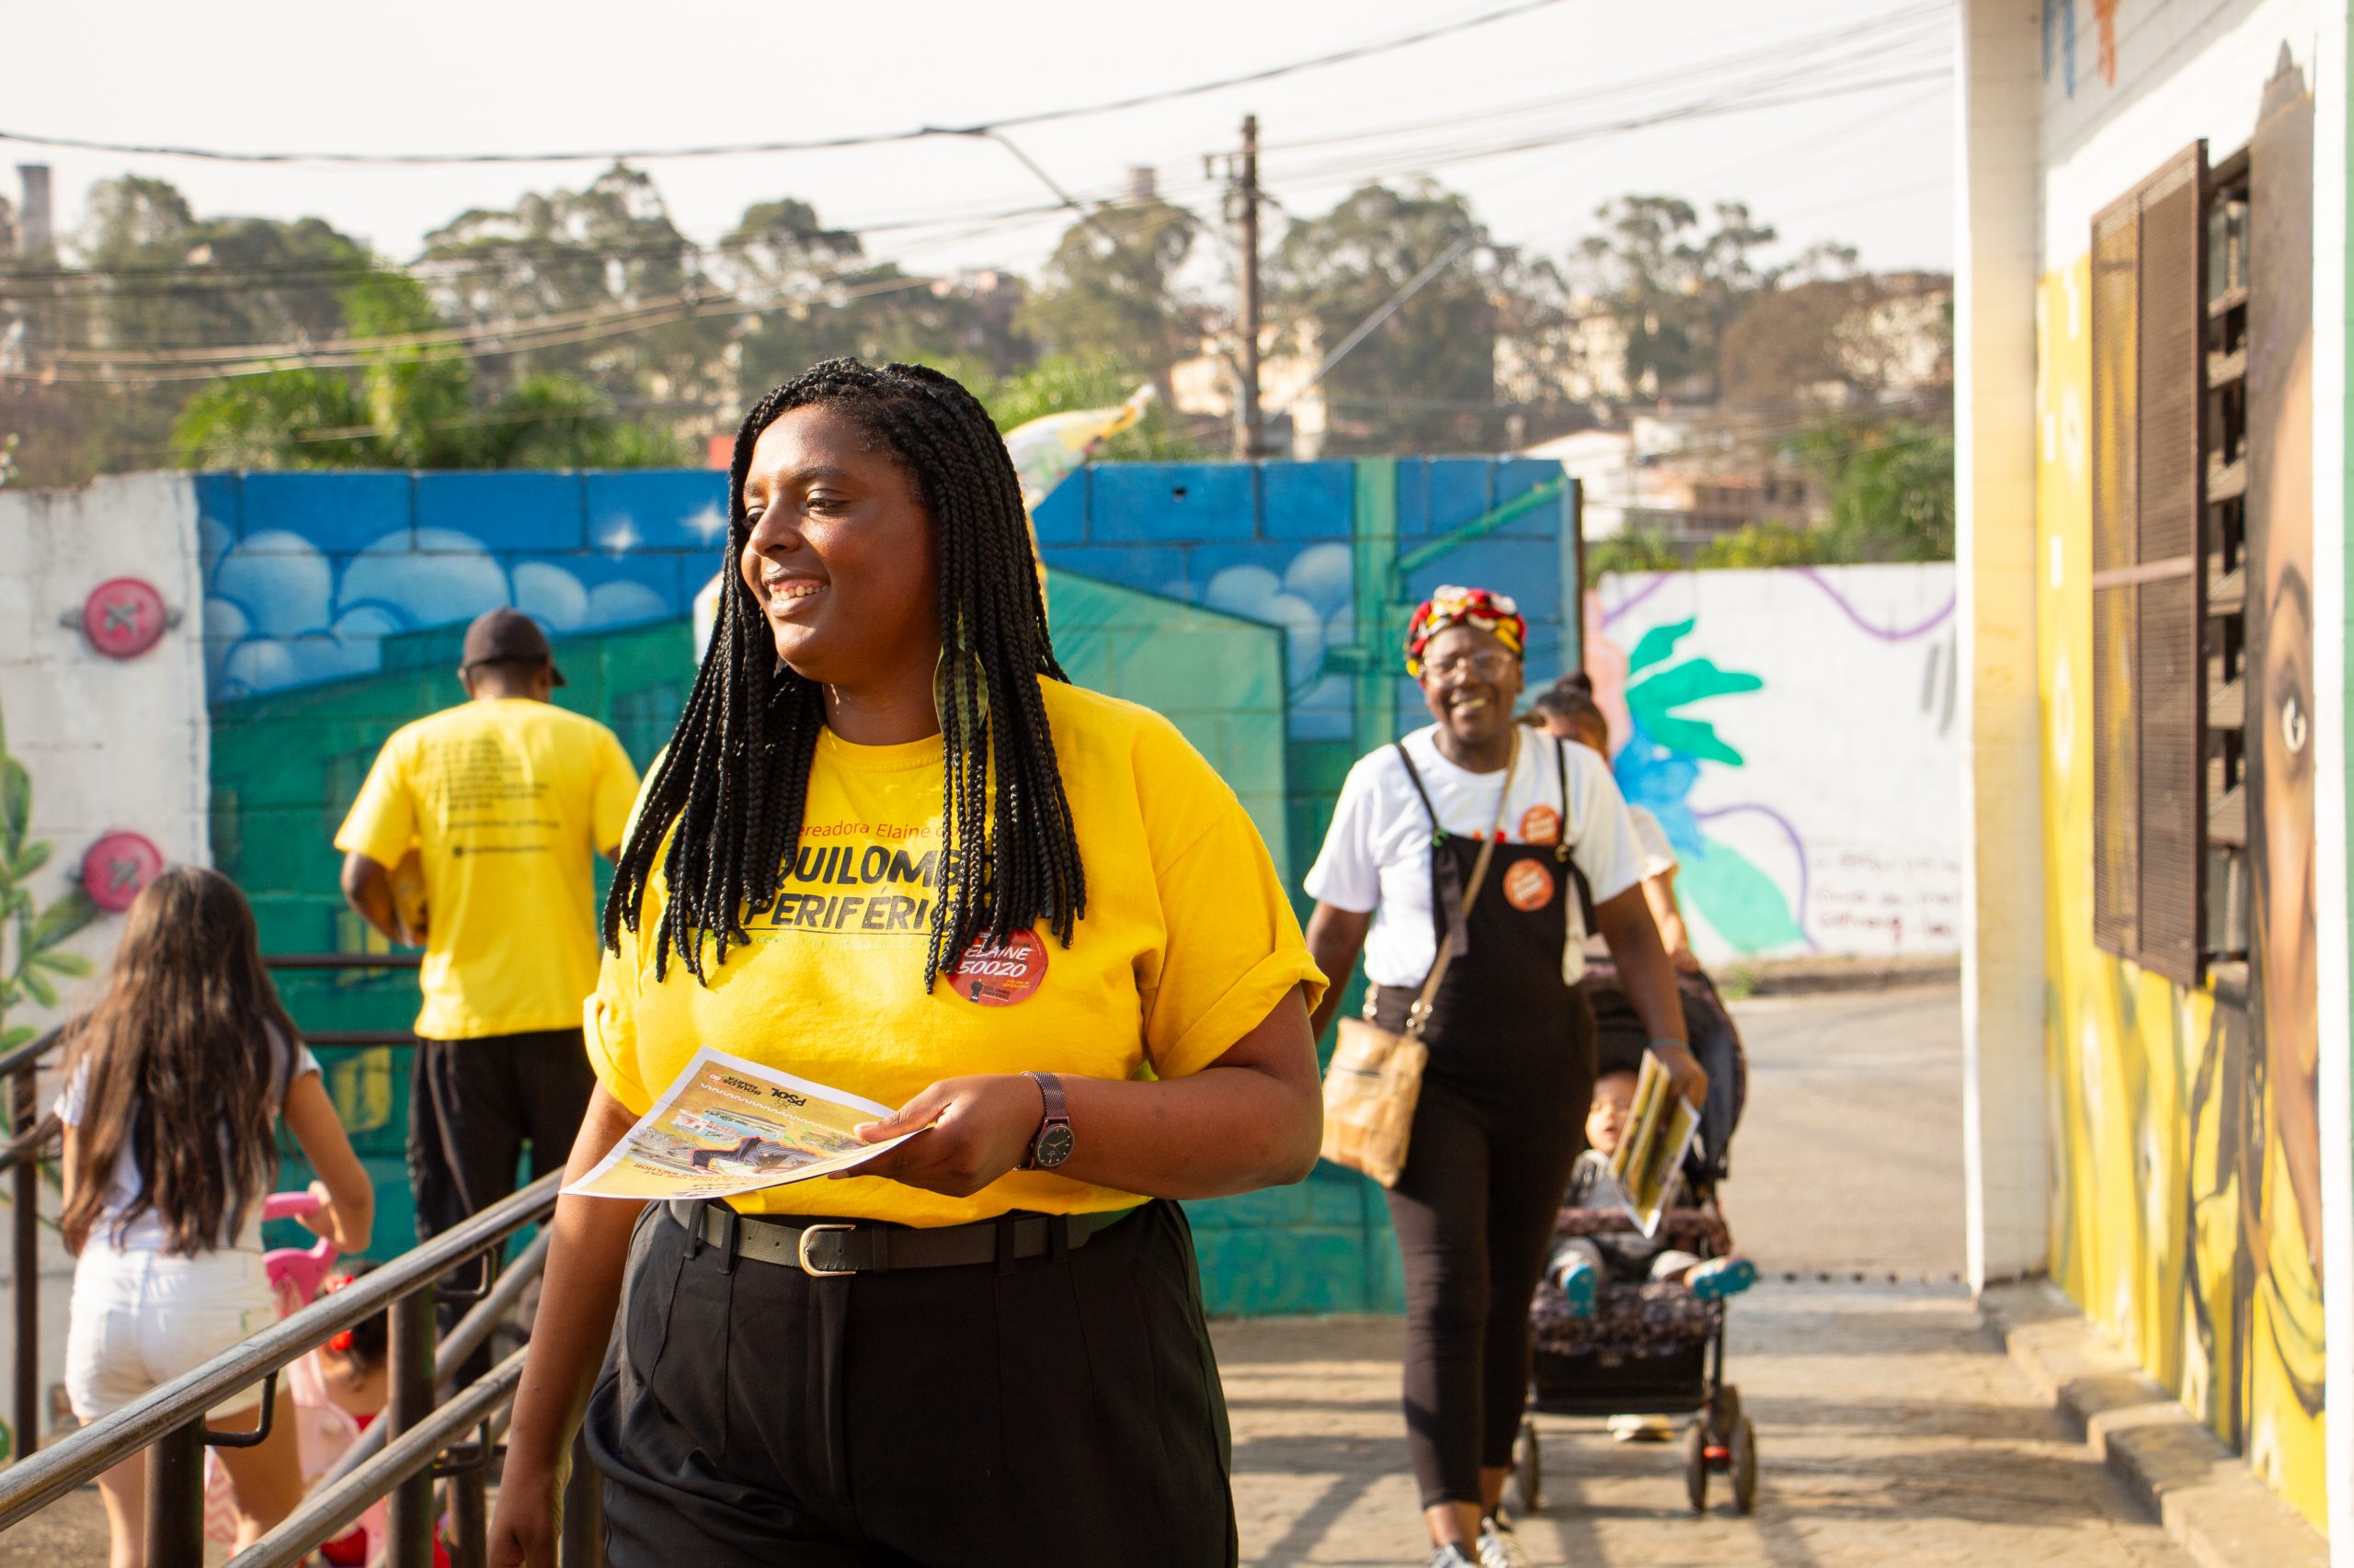
[[(692, 600), (718, 570), (725, 476), (214, 473), (193, 480), (212, 718), (212, 850), (273, 951), (370, 951), (330, 838), (384, 739), (459, 699), (466, 619), (516, 605), (556, 636), (558, 692), (640, 768), (692, 683)], [(1038, 509), (1073, 680), (1168, 713), (1250, 808), (1297, 885), (1358, 751), (1419, 723), (1396, 631), (1445, 577), (1521, 596), (1532, 659), (1563, 624), (1575, 492), (1558, 464), (1130, 464)], [(405, 977), (287, 979), (306, 1029), (400, 1029)], [(405, 1236), (405, 1064), (330, 1062), (330, 1088)], [(1387, 1210), (1354, 1172), (1193, 1205), (1219, 1311), (1401, 1304)]]

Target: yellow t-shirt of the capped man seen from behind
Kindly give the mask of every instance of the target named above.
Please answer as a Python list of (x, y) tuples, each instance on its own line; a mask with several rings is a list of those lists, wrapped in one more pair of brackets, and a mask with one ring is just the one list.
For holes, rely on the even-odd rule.
[(334, 848), (426, 883), (417, 1034), (572, 1029), (596, 989), (600, 850), (638, 772), (612, 730), (548, 702), (468, 702), (393, 732)]

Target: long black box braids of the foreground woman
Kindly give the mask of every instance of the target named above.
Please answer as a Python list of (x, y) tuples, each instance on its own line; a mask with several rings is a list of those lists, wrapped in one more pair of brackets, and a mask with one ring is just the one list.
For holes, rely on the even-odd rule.
[(706, 965), (727, 963), (727, 946), (749, 939), (744, 918), (774, 906), (800, 845), (824, 695), (777, 659), (739, 565), (751, 539), (744, 476), (753, 443), (807, 405), (864, 424), (916, 478), (932, 513), (944, 647), (935, 683), (942, 883), (925, 991), (984, 937), (996, 946), (1043, 928), (1069, 946), (1088, 883), (1038, 692), (1040, 676), (1069, 676), (1048, 638), (1022, 480), (970, 391), (925, 365), (859, 360), (812, 365), (760, 398), (737, 431), (718, 624), (621, 848), (605, 899), (605, 946), (619, 946), (624, 925), (638, 932), (659, 857), (669, 902), (654, 932), (654, 975), (676, 954), (709, 984)]

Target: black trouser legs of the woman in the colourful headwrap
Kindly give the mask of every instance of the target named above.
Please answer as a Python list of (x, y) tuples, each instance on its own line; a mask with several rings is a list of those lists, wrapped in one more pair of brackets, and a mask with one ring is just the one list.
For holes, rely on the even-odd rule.
[[(1478, 1052), (1431, 1048), (1389, 1222), (1405, 1264), (1405, 1448), (1422, 1507), (1478, 1502), (1478, 1471), (1511, 1464), (1528, 1403), (1528, 1311), (1554, 1215), (1587, 1140), (1594, 1029), (1511, 1083)], [(1462, 1069), (1462, 1071), (1450, 1071)]]

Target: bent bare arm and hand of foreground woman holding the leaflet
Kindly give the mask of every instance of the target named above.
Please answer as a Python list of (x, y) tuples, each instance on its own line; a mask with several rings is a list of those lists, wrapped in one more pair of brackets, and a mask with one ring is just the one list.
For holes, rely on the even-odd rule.
[[(1323, 1142), (1323, 1092), (1304, 986), (1210, 1067), (1184, 1078), (1062, 1076), (1071, 1116), (1073, 1182), (1149, 1198), (1224, 1198), (1306, 1177)], [(859, 1128), (883, 1142), (918, 1137), (859, 1165), (909, 1187), (970, 1196), (1029, 1156), (1045, 1099), (1024, 1074), (944, 1078), (885, 1121)]]

